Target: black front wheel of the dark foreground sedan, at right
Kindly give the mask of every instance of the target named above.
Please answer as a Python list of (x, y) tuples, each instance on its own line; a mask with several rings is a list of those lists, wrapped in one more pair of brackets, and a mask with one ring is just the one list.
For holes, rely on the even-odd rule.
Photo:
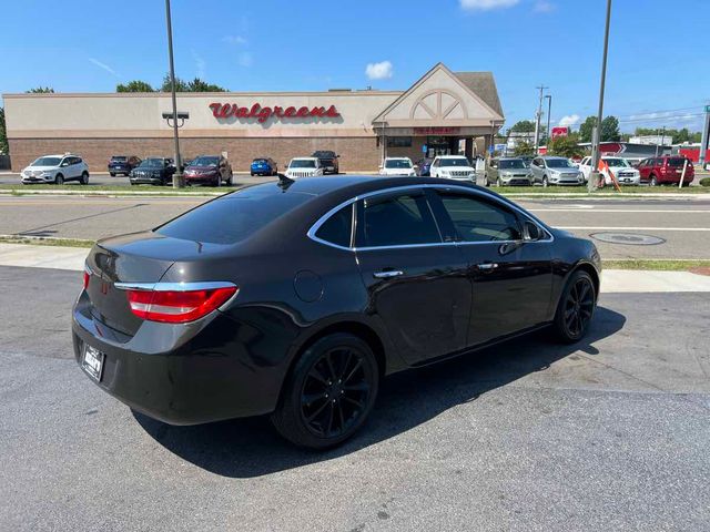
[(572, 274), (557, 307), (555, 326), (560, 338), (574, 342), (585, 336), (595, 314), (597, 295), (589, 274)]

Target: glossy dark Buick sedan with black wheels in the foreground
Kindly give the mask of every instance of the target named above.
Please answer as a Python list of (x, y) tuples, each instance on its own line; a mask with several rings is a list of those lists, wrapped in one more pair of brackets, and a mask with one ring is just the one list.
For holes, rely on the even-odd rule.
[(579, 340), (599, 275), (591, 242), (475, 185), (282, 177), (100, 241), (74, 355), (159, 420), (271, 413), (322, 449), (363, 424), (385, 375), (541, 327)]

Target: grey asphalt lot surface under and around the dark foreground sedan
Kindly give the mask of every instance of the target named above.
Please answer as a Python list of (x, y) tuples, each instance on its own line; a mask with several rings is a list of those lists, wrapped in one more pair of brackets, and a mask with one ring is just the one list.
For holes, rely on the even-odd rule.
[(605, 294), (544, 332), (385, 380), (298, 451), (263, 418), (178, 428), (72, 359), (81, 274), (0, 267), (2, 530), (708, 530), (708, 294)]

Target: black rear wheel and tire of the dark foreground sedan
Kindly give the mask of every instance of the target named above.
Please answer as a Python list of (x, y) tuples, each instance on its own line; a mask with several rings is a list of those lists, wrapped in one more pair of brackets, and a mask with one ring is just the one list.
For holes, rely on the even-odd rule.
[(377, 360), (367, 342), (345, 332), (325, 336), (296, 362), (272, 423), (296, 446), (337, 446), (363, 426), (378, 385)]

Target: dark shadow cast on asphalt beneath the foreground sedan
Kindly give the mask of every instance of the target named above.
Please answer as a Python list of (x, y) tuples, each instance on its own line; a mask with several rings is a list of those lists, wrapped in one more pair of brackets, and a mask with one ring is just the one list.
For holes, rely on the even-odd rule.
[[(385, 378), (369, 421), (345, 444), (325, 452), (295, 448), (280, 438), (266, 417), (193, 427), (174, 427), (133, 411), (141, 427), (168, 450), (213, 473), (252, 478), (343, 457), (413, 429), (442, 412), (476, 400), (487, 391), (544, 371), (578, 350), (587, 355), (621, 328), (626, 318), (599, 306), (587, 337), (562, 345), (549, 330), (427, 368)], [(435, 442), (433, 442), (435, 444)]]

